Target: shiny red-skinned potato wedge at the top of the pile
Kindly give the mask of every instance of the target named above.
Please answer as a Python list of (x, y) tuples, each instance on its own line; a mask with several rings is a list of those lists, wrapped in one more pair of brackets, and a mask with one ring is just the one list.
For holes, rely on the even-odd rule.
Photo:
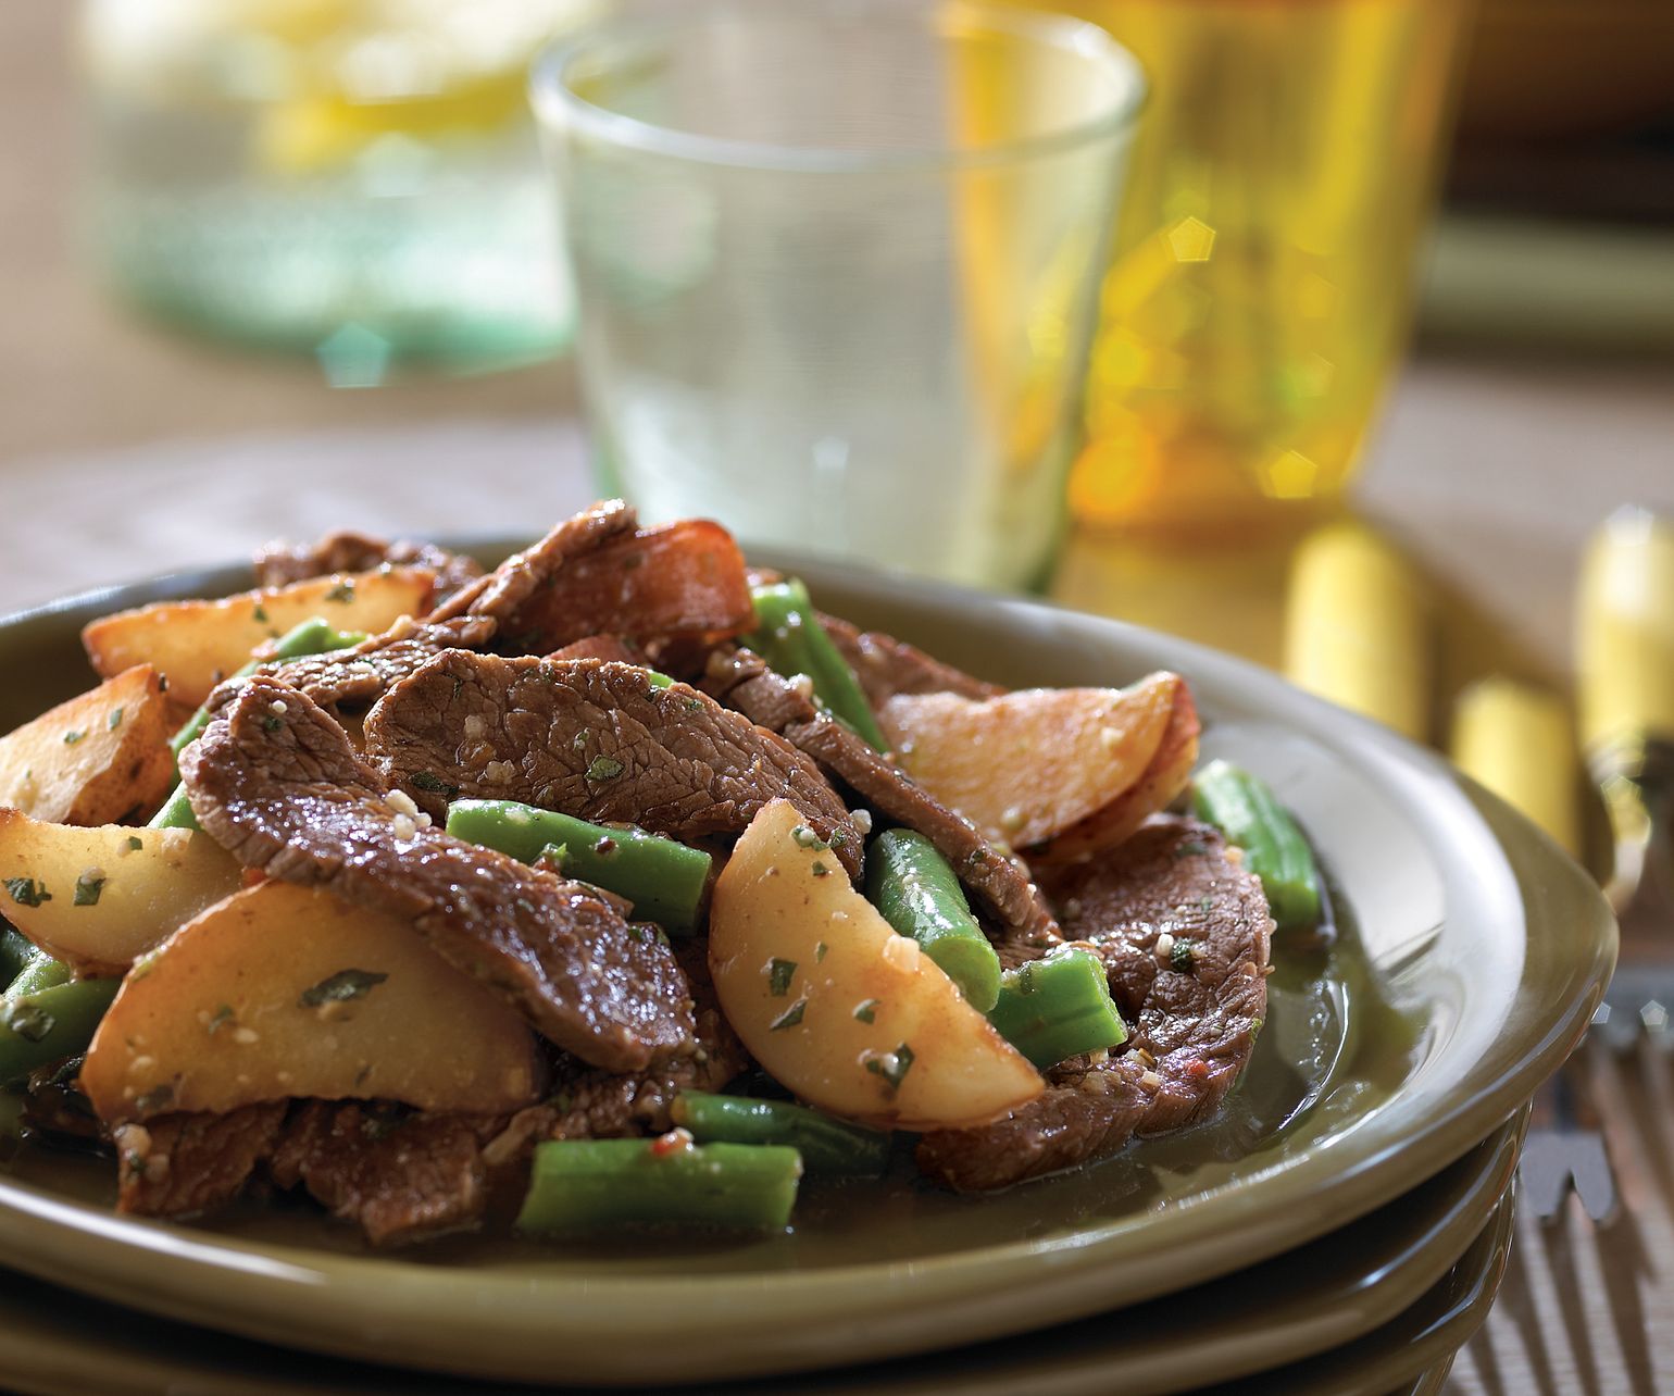
[(643, 529), (569, 559), (502, 626), (544, 653), (591, 634), (725, 636), (755, 624), (743, 554), (708, 519)]

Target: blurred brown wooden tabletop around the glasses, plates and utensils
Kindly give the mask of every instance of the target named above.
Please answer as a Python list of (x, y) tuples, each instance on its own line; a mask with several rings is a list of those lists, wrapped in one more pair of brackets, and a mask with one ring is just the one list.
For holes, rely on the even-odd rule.
[[(244, 556), (273, 536), (527, 532), (589, 497), (562, 363), (335, 392), (308, 363), (169, 338), (100, 300), (74, 251), (72, 8), (0, 7), (0, 167), (10, 174), (0, 181), (0, 613)], [(469, 490), (449, 469), (460, 460)], [(1393, 393), (1358, 499), (1435, 574), (1443, 608), (1490, 623), (1497, 661), (1562, 678), (1589, 529), (1624, 500), (1674, 509), (1674, 367), (1421, 355)], [(1093, 574), (1115, 547), (1076, 542)], [(1666, 1086), (1666, 1070), (1659, 1080)], [(1667, 1172), (1666, 1158), (1647, 1165), (1641, 1197)], [(1667, 1207), (1654, 1205), (1666, 1220)], [(1523, 1232), (1525, 1250), (1542, 1247), (1530, 1224)], [(1630, 1277), (1656, 1306), (1644, 1304), (1646, 1332), (1617, 1326), (1629, 1389), (1654, 1389), (1657, 1344), (1674, 1342), (1651, 1331), (1651, 1316), (1674, 1306), (1671, 1264), (1641, 1257)], [(1567, 1366), (1508, 1356), (1533, 1351), (1513, 1339), (1540, 1331), (1550, 1297), (1513, 1275), (1455, 1386), (1609, 1389), (1589, 1373), (1607, 1373), (1610, 1354), (1585, 1341), (1570, 1344)]]

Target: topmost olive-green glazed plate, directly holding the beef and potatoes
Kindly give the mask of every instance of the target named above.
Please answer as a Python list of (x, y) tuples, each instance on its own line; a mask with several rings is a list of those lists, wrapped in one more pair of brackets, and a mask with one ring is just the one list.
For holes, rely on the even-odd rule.
[[(795, 1234), (770, 1240), (400, 1257), (363, 1254), (301, 1210), (214, 1232), (117, 1219), (105, 1170), (32, 1157), (0, 1182), (7, 1262), (251, 1337), (475, 1376), (668, 1383), (877, 1359), (1105, 1312), (1336, 1230), (1507, 1120), (1585, 1026), (1615, 954), (1602, 899), (1435, 757), (1182, 641), (802, 571), (829, 609), (1004, 683), (1180, 670), (1209, 720), (1205, 753), (1267, 775), (1299, 812), (1344, 929), (1326, 956), (1281, 951), (1269, 1028), (1217, 1120), (991, 1198), (909, 1172), (882, 1190), (814, 1190)], [(239, 569), (172, 577), (0, 623), (0, 726), (87, 686), (75, 631), (90, 616), (246, 583)]]

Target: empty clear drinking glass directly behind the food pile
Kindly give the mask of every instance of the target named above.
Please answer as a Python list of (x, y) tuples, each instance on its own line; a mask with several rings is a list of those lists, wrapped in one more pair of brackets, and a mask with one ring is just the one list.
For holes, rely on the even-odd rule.
[(1043, 583), (1142, 94), (1096, 27), (963, 0), (723, 0), (549, 52), (603, 485)]

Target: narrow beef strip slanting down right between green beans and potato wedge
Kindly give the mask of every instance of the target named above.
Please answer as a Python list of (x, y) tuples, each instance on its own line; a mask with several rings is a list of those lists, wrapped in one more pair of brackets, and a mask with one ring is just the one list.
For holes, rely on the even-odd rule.
[(758, 654), (716, 651), (703, 686), (760, 726), (782, 731), (869, 805), (929, 839), (999, 921), (1004, 941), (1031, 951), (1060, 942), (1051, 912), (1024, 867), (993, 847), (963, 813), (914, 783), (901, 767), (817, 711), (807, 693), (770, 670)]

